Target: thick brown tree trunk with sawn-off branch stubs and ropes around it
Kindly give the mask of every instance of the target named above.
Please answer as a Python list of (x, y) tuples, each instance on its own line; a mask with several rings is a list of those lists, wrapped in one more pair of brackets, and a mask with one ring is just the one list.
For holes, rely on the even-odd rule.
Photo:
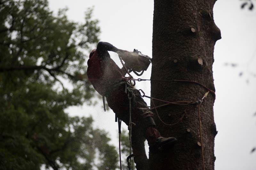
[[(155, 0), (153, 63), (151, 79), (196, 81), (214, 89), (212, 64), (215, 42), (221, 38), (213, 20), (214, 0)], [(151, 97), (161, 100), (198, 101), (208, 90), (193, 82), (151, 81)], [(198, 105), (167, 105), (157, 108), (155, 121), (163, 137), (176, 137), (177, 144), (157, 154), (150, 153), (151, 169), (214, 169), (214, 93), (200, 104), (203, 157)], [(154, 100), (156, 106), (165, 104)], [(151, 101), (151, 107), (154, 107)], [(156, 111), (155, 111), (156, 113)], [(204, 168), (205, 167), (205, 168)]]

